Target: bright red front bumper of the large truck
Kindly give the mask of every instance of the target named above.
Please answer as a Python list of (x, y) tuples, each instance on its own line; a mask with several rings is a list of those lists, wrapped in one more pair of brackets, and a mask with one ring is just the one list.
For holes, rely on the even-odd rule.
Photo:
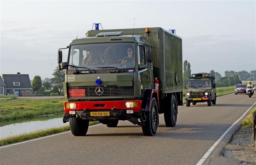
[[(137, 107), (134, 108), (126, 108), (125, 107), (125, 102), (127, 101), (136, 101), (137, 102)], [(66, 103), (71, 103), (74, 102), (76, 103), (76, 108), (75, 109), (68, 109), (66, 107)], [(63, 107), (65, 113), (69, 114), (70, 110), (111, 110), (111, 109), (127, 109), (133, 110), (133, 113), (140, 112), (141, 110), (141, 100), (125, 100), (125, 101), (68, 101), (68, 102), (63, 102)]]

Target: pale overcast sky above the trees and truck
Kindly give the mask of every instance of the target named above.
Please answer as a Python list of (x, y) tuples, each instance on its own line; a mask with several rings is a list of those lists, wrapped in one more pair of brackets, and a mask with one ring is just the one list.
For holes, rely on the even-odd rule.
[[(254, 1), (0, 1), (0, 75), (52, 78), (57, 51), (104, 29), (163, 27), (182, 38), (191, 73), (256, 70)], [(251, 60), (247, 60), (250, 57)], [(65, 58), (64, 60), (65, 61)]]

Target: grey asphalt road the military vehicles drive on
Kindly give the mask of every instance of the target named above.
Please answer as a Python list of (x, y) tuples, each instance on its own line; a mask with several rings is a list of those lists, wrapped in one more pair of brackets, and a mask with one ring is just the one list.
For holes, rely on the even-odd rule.
[[(165, 127), (164, 116), (160, 115), (154, 137), (143, 136), (140, 126), (127, 121), (119, 122), (116, 128), (103, 124), (90, 127), (84, 137), (66, 132), (0, 148), (0, 163), (196, 164), (255, 102), (256, 95), (249, 98), (244, 94), (231, 94), (217, 98), (217, 104), (212, 107), (207, 103), (179, 106), (176, 127)], [(227, 137), (231, 134), (232, 131)], [(212, 154), (217, 155), (221, 151), (218, 148), (224, 145), (220, 143)]]

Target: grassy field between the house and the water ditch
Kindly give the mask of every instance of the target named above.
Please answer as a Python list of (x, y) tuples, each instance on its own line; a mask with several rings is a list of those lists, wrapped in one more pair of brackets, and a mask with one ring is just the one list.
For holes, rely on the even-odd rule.
[(0, 123), (30, 116), (63, 113), (66, 99), (0, 99)]

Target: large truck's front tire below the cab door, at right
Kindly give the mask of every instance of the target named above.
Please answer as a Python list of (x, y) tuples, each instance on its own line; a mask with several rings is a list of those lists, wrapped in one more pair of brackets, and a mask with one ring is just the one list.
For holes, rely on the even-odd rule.
[(146, 122), (142, 125), (142, 132), (144, 136), (154, 136), (157, 130), (158, 124), (158, 108), (156, 99), (153, 97), (151, 100), (151, 107), (149, 112), (145, 112)]

